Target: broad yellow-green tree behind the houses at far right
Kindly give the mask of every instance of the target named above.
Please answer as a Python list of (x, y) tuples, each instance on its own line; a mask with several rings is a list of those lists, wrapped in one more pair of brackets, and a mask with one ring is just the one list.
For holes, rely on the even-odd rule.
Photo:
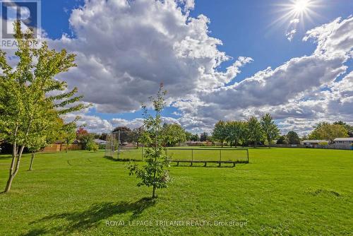
[(321, 122), (309, 134), (309, 139), (325, 139), (333, 142), (335, 138), (348, 137), (348, 131), (344, 124), (329, 124)]

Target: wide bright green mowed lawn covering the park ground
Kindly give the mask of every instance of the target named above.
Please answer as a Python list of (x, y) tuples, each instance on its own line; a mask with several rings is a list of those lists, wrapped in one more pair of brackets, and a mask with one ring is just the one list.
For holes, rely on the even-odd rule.
[[(151, 189), (136, 187), (127, 163), (103, 158), (104, 151), (40, 154), (31, 172), (25, 155), (11, 193), (0, 194), (0, 235), (353, 234), (353, 151), (249, 153), (250, 163), (235, 168), (170, 167), (173, 182), (157, 190), (155, 202), (144, 199)], [(0, 157), (0, 187), (10, 162)], [(132, 225), (145, 220), (152, 226)], [(247, 225), (217, 226), (215, 220)]]

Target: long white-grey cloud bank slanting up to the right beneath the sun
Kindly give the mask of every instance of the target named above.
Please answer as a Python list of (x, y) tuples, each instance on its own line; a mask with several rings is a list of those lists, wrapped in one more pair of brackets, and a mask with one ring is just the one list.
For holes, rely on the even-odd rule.
[(218, 119), (270, 112), (281, 121), (283, 131), (295, 129), (300, 134), (324, 120), (352, 124), (352, 72), (337, 82), (352, 59), (352, 22), (352, 17), (337, 19), (330, 27), (309, 30), (304, 40), (318, 42), (309, 56), (290, 59), (234, 85), (203, 91), (194, 100), (176, 102), (183, 113), (180, 120), (191, 129), (210, 130)]

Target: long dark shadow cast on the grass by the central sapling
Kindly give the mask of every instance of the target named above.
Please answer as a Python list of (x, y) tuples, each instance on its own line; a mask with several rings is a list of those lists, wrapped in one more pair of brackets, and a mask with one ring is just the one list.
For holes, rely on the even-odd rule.
[(149, 208), (155, 204), (155, 201), (150, 198), (143, 198), (136, 202), (130, 203), (127, 201), (121, 201), (119, 203), (104, 202), (97, 203), (90, 206), (85, 211), (73, 211), (68, 213), (54, 214), (46, 216), (40, 220), (36, 220), (32, 224), (54, 225), (53, 221), (66, 220), (66, 223), (58, 224), (52, 228), (35, 228), (25, 233), (24, 235), (68, 235), (73, 232), (80, 232), (82, 230), (88, 230), (95, 228), (101, 223), (102, 220), (110, 218), (114, 215), (131, 212), (131, 220), (140, 216), (146, 208)]

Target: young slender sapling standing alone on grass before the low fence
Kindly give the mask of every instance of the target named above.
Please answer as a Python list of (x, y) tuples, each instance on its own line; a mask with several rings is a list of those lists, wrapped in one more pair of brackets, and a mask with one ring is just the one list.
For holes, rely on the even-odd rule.
[(136, 164), (129, 165), (130, 175), (136, 175), (141, 182), (138, 186), (152, 187), (152, 199), (155, 199), (156, 189), (166, 188), (170, 181), (169, 171), (166, 167), (170, 166), (170, 159), (165, 155), (166, 148), (163, 143), (166, 139), (162, 131), (161, 112), (165, 106), (164, 96), (166, 91), (163, 85), (160, 85), (160, 90), (156, 98), (150, 98), (155, 115), (148, 114), (148, 109), (143, 105), (144, 121), (143, 121), (143, 142), (147, 147), (143, 155), (145, 165), (138, 167)]

